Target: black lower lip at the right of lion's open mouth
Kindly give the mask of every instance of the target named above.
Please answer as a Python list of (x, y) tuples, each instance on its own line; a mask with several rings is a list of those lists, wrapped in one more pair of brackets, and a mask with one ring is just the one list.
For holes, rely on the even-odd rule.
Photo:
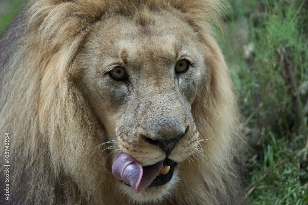
[[(168, 183), (172, 179), (173, 170), (174, 170), (174, 167), (177, 165), (177, 163), (170, 160), (168, 157), (166, 157), (164, 159), (163, 165), (164, 166), (170, 166), (170, 170), (168, 171), (168, 173), (165, 174), (165, 175), (156, 176), (156, 178), (153, 179), (152, 183), (148, 187), (162, 186), (162, 185)], [(127, 183), (125, 183), (125, 184), (131, 187), (130, 184), (127, 184)]]

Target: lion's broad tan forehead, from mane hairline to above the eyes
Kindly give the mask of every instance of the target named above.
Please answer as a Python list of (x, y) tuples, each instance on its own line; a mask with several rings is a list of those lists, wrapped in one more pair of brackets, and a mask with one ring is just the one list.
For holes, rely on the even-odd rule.
[(94, 32), (93, 38), (98, 38), (95, 46), (111, 57), (119, 57), (125, 49), (129, 59), (134, 61), (146, 57), (174, 59), (188, 53), (188, 48), (190, 53), (195, 52), (197, 33), (187, 22), (169, 15), (153, 15), (155, 21), (148, 25), (140, 25), (124, 16), (108, 18), (100, 22)]

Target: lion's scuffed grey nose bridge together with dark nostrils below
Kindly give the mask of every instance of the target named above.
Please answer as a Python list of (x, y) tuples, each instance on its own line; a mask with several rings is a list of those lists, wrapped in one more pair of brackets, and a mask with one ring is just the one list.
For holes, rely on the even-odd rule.
[(136, 119), (142, 119), (137, 120), (142, 127), (139, 140), (158, 146), (168, 157), (182, 138), (192, 134), (194, 121), (189, 104), (174, 90), (142, 99), (136, 106)]

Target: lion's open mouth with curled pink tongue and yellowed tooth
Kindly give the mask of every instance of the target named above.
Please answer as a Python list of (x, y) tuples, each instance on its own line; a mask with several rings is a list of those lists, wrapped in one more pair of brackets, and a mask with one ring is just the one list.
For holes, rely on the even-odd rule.
[(172, 178), (174, 166), (176, 163), (166, 157), (156, 164), (142, 167), (138, 160), (120, 152), (112, 164), (112, 174), (130, 185), (136, 193), (140, 193), (147, 187), (168, 183)]

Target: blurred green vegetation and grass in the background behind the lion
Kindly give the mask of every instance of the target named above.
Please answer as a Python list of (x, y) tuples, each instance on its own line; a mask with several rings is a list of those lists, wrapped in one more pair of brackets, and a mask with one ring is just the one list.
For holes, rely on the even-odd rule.
[[(0, 36), (24, 0), (12, 2), (0, 2)], [(308, 204), (308, 2), (230, 3), (219, 42), (250, 145), (246, 201)]]

